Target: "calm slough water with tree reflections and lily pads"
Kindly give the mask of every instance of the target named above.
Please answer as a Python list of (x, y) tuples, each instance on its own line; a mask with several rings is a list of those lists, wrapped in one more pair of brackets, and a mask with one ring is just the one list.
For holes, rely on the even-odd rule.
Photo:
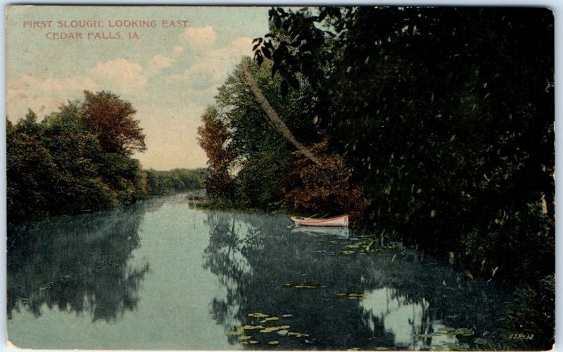
[(507, 293), (400, 243), (186, 195), (8, 228), (22, 348), (483, 349)]

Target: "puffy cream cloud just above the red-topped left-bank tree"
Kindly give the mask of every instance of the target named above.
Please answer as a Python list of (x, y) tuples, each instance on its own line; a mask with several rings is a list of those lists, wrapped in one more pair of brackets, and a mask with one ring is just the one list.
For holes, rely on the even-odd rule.
[(108, 89), (118, 94), (143, 89), (148, 81), (141, 65), (129, 63), (124, 58), (97, 63), (88, 70), (88, 73), (96, 82), (99, 82), (102, 89)]

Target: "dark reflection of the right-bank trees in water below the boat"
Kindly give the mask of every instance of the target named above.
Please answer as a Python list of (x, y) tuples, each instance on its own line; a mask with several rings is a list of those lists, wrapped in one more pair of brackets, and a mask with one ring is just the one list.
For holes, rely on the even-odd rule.
[[(339, 256), (354, 238), (291, 233), (283, 216), (208, 211), (210, 242), (203, 264), (220, 281), (211, 314), (233, 332), (241, 325), (289, 325), (296, 339), (248, 331), (261, 348), (279, 340), (284, 349), (429, 348), (453, 344), (455, 336), (419, 339), (441, 327), (486, 332), (502, 311), (502, 294), (480, 282), (460, 282), (457, 273), (414, 249)], [(375, 246), (375, 245), (374, 245)], [(318, 288), (283, 288), (310, 282)], [(311, 285), (314, 286), (314, 285)], [(362, 299), (339, 299), (356, 292)], [(340, 296), (341, 297), (341, 296)], [(259, 322), (248, 313), (279, 318)], [(289, 314), (291, 318), (282, 318)], [(240, 341), (229, 336), (231, 344)], [(448, 340), (448, 341), (445, 341)]]

